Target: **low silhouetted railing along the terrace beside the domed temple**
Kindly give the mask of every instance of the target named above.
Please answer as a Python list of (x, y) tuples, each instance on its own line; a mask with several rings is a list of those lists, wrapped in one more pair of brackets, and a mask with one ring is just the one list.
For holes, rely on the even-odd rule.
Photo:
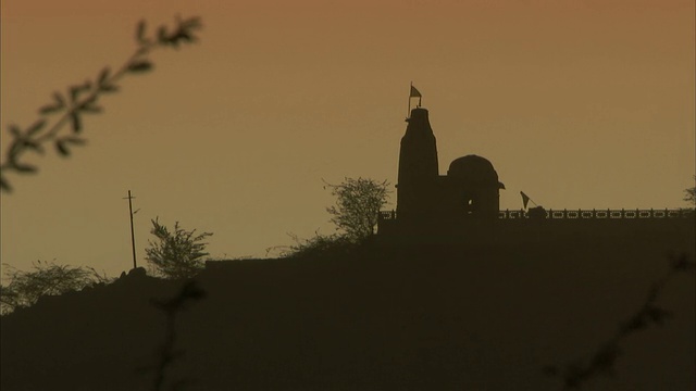
[[(635, 219), (635, 218), (684, 218), (695, 215), (694, 210), (683, 209), (683, 210), (548, 210), (540, 211), (546, 215), (532, 215), (530, 216), (529, 211), (499, 211), (498, 218), (500, 219), (522, 219), (522, 218), (550, 218), (550, 219), (585, 219), (585, 218), (597, 218), (597, 219)], [(539, 212), (532, 212), (539, 213)], [(394, 220), (397, 218), (395, 211), (381, 211), (380, 219), (381, 220)]]

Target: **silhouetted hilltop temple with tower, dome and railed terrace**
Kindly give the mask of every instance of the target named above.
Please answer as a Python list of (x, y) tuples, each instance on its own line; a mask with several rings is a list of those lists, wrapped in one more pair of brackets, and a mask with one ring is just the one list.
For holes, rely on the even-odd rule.
[[(396, 211), (381, 212), (378, 234), (426, 241), (494, 240), (510, 243), (559, 236), (684, 238), (692, 210), (500, 210), (493, 164), (475, 154), (456, 159), (439, 175), (428, 111), (417, 108), (401, 138)], [(686, 237), (689, 235), (687, 234)]]

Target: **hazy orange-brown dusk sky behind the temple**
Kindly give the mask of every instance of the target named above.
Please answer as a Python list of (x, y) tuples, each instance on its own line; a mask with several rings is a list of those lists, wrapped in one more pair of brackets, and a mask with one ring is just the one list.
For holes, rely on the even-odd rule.
[(440, 173), (487, 157), (504, 209), (520, 190), (551, 209), (680, 207), (694, 186), (693, 0), (4, 0), (3, 146), (52, 91), (120, 66), (140, 18), (177, 13), (202, 17), (199, 45), (124, 78), (72, 157), (10, 177), (2, 263), (127, 270), (127, 190), (140, 264), (156, 216), (213, 232), (225, 258), (332, 234), (322, 179), (395, 184), (411, 80)]

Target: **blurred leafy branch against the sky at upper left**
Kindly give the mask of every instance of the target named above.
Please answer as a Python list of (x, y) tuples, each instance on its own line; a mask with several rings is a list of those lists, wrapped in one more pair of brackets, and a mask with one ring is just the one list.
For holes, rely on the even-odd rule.
[[(148, 59), (148, 54), (154, 49), (173, 47), (178, 48), (183, 43), (197, 40), (194, 31), (201, 28), (200, 18), (190, 17), (182, 20), (176, 17), (176, 26), (170, 29), (160, 26), (154, 37), (147, 37), (146, 22), (141, 21), (136, 29), (137, 49), (115, 72), (110, 67), (102, 68), (95, 79), (76, 84), (67, 88), (65, 92), (55, 91), (52, 102), (38, 110), (39, 118), (24, 129), (10, 124), (8, 130), (12, 140), (8, 143), (7, 152), (0, 162), (0, 189), (4, 192), (12, 190), (7, 174), (34, 174), (38, 168), (23, 161), (26, 152), (45, 153), (45, 144), (52, 143), (59, 155), (66, 157), (71, 149), (84, 146), (86, 139), (82, 137), (85, 114), (99, 114), (102, 106), (99, 98), (105, 93), (116, 92), (117, 83), (126, 75), (141, 74), (151, 71), (154, 66)], [(55, 116), (58, 114), (58, 116)], [(52, 125), (49, 117), (53, 116)], [(70, 124), (70, 130), (64, 130)]]

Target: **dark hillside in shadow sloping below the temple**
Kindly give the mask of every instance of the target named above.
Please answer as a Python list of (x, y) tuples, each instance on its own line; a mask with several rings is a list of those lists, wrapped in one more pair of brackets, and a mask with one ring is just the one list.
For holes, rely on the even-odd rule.
[[(552, 241), (371, 243), (297, 260), (210, 265), (207, 298), (177, 319), (184, 390), (561, 390), (545, 375), (588, 361), (694, 232)], [(13, 390), (148, 390), (182, 282), (135, 274), (2, 317), (1, 382)], [(659, 306), (673, 316), (623, 340), (592, 390), (694, 390), (693, 274)]]

